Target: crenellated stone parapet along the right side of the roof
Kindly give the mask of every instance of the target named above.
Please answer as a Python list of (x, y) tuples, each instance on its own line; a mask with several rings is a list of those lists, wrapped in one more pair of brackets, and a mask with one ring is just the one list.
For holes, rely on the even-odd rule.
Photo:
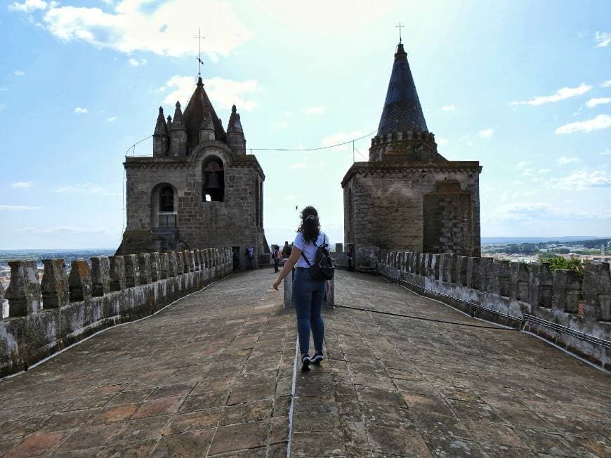
[(608, 263), (587, 263), (582, 281), (574, 270), (552, 275), (548, 263), (383, 249), (377, 257), (378, 273), (419, 294), (478, 318), (523, 327), (598, 365), (611, 365)]

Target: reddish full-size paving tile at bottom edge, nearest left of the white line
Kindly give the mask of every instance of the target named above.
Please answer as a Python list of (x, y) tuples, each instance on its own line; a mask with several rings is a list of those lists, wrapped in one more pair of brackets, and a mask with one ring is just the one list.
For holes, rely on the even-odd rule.
[(210, 455), (262, 447), (267, 443), (272, 422), (270, 420), (220, 426), (210, 447)]

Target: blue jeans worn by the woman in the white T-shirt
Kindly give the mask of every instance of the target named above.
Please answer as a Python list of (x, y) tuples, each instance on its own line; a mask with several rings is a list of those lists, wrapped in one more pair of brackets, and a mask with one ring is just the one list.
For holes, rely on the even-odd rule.
[(297, 314), (297, 334), (301, 354), (310, 350), (310, 331), (314, 348), (322, 352), (324, 323), (322, 322), (322, 298), (327, 288), (324, 280), (313, 280), (307, 269), (296, 269), (293, 280), (293, 303)]

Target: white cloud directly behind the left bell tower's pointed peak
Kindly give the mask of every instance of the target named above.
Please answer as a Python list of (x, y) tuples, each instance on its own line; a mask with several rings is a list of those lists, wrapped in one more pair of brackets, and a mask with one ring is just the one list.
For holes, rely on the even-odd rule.
[[(173, 89), (164, 98), (164, 103), (173, 106), (176, 100), (180, 100), (180, 104), (185, 107), (195, 90), (195, 79), (176, 75), (166, 82), (164, 89)], [(256, 107), (257, 103), (254, 100), (244, 100), (242, 97), (245, 97), (246, 94), (261, 91), (261, 86), (254, 79), (233, 81), (232, 79), (214, 77), (212, 79), (204, 79), (204, 89), (206, 89), (206, 93), (212, 102), (218, 103), (218, 107), (230, 108), (231, 105), (235, 104), (238, 111), (250, 111)]]

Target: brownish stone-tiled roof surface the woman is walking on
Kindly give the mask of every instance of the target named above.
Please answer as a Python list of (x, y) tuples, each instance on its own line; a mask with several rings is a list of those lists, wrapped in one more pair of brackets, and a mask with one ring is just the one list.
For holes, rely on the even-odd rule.
[[(232, 275), (0, 381), (0, 455), (287, 456), (294, 315), (273, 278)], [(611, 456), (609, 374), (379, 277), (339, 272), (336, 303), (428, 320), (325, 310), (291, 456)]]

